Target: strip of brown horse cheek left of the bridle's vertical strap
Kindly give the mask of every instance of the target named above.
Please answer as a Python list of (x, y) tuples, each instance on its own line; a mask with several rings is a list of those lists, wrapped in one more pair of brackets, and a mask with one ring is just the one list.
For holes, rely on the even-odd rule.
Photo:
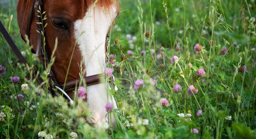
[[(18, 0), (17, 18), (20, 27), (20, 35), (26, 41), (25, 35), (29, 37), (30, 45), (33, 47), (32, 52), (37, 46), (36, 23), (34, 19), (34, 0)], [(30, 23), (29, 23), (30, 22)]]

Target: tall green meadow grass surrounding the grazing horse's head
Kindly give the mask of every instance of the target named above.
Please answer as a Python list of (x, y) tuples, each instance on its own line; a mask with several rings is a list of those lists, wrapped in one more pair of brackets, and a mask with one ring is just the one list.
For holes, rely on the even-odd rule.
[[(14, 0), (7, 4), (0, 6), (0, 20), (10, 28), (28, 63), (40, 65), (20, 38)], [(85, 122), (83, 116), (90, 114), (80, 99), (76, 106), (68, 106), (63, 97), (52, 98), (35, 81), (27, 81), (27, 67), (18, 62), (1, 35), (0, 65), (6, 72), (0, 77), (0, 137), (39, 138), (44, 131), (54, 139), (71, 138), (71, 132), (78, 139), (255, 139), (254, 7), (254, 0), (122, 0), (108, 43), (109, 53), (116, 55), (115, 65), (108, 63), (108, 67), (114, 69), (118, 88), (115, 91), (112, 86), (109, 94), (114, 95), (118, 109), (111, 112), (116, 127), (107, 132), (106, 125)], [(199, 54), (195, 44), (203, 46)], [(177, 45), (180, 51), (175, 51)], [(222, 55), (224, 46), (227, 52)], [(128, 55), (128, 50), (134, 54)], [(141, 51), (146, 54), (141, 56)], [(176, 63), (170, 62), (173, 56), (179, 57)], [(243, 65), (247, 70), (238, 72)], [(203, 76), (197, 76), (199, 69), (204, 69)], [(12, 76), (20, 81), (13, 83)], [(145, 88), (134, 88), (138, 79)], [(21, 90), (24, 83), (28, 90)], [(182, 87), (179, 92), (173, 89), (176, 84)], [(190, 85), (198, 89), (197, 94), (188, 94)], [(23, 101), (18, 94), (24, 95)], [(160, 105), (161, 98), (167, 99), (168, 107)], [(202, 115), (197, 116), (198, 110)], [(181, 113), (184, 117), (177, 115)], [(191, 133), (194, 128), (198, 133)]]

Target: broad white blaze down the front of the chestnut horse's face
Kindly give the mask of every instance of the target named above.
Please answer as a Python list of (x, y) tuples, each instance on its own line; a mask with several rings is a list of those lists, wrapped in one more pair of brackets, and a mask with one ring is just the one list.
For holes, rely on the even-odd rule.
[[(106, 12), (103, 7), (90, 6), (83, 19), (74, 22), (75, 37), (84, 58), (87, 76), (101, 74), (106, 68), (105, 42), (108, 29), (115, 17), (116, 9), (113, 6)], [(92, 112), (93, 121), (100, 123), (106, 115), (105, 105), (112, 102), (107, 93), (106, 83), (88, 86), (88, 105)]]

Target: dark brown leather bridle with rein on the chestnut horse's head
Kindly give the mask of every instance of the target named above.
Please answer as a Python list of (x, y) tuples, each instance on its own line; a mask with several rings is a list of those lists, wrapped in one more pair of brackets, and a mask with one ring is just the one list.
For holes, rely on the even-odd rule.
[[(28, 38), (29, 38), (30, 28), (31, 28), (33, 18), (35, 18), (36, 23), (41, 22), (39, 12), (38, 12), (39, 7), (41, 7), (41, 8), (43, 7), (42, 0), (35, 0), (34, 5), (32, 5), (31, 8), (30, 8), (28, 21), (27, 21), (27, 28), (26, 28), (26, 34), (28, 35)], [(42, 32), (43, 25), (42, 24), (36, 24), (36, 28), (37, 28), (37, 31)], [(4, 26), (2, 25), (1, 22), (0, 22), (0, 31), (2, 32), (3, 36), (6, 38), (8, 44), (10, 45), (10, 47), (12, 48), (12, 50), (14, 51), (15, 55), (18, 57), (20, 62), (28, 65), (26, 59), (22, 56), (19, 49), (14, 44), (13, 40), (11, 39), (11, 37), (9, 36), (9, 34), (7, 33), (6, 29), (4, 28)], [(40, 62), (41, 63), (46, 62), (46, 66), (47, 66), (48, 63), (50, 62), (50, 57), (49, 57), (49, 53), (47, 51), (47, 47), (45, 47), (45, 48), (43, 47), (43, 40), (44, 40), (44, 37), (43, 37), (42, 33), (37, 33), (36, 55), (38, 57), (40, 57)], [(45, 64), (43, 64), (43, 68), (44, 69), (47, 68), (47, 67), (45, 67)], [(41, 84), (41, 83), (43, 83), (43, 80), (39, 75), (37, 75), (37, 69), (38, 68), (35, 65), (32, 69), (32, 79), (36, 79), (37, 82), (39, 84)], [(54, 88), (57, 88), (61, 91), (61, 93), (64, 95), (64, 97), (66, 97), (71, 102), (73, 102), (73, 101), (67, 95), (67, 93), (66, 93), (67, 91), (75, 90), (77, 84), (79, 82), (81, 82), (81, 80), (85, 80), (87, 86), (101, 83), (101, 80), (100, 80), (101, 76), (102, 76), (102, 74), (96, 74), (96, 75), (93, 75), (93, 76), (83, 77), (83, 79), (79, 78), (79, 79), (75, 79), (75, 80), (72, 80), (72, 81), (67, 81), (65, 84), (64, 83), (61, 84), (61, 83), (58, 82), (58, 80), (55, 76), (55, 72), (54, 72), (53, 67), (51, 67), (49, 73), (47, 73), (47, 78), (49, 80), (49, 86), (50, 86), (49, 90), (50, 90), (51, 94), (53, 96), (55, 96), (56, 94), (55, 94)], [(31, 79), (29, 74), (27, 74), (26, 78), (28, 80)], [(65, 86), (65, 88), (64, 88), (64, 86)]]

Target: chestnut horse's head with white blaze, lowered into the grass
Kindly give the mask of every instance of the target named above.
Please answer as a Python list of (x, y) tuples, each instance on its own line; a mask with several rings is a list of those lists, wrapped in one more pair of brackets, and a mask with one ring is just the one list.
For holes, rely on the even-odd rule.
[[(103, 73), (106, 68), (107, 37), (111, 25), (119, 14), (116, 0), (18, 0), (17, 16), (20, 34), (23, 40), (29, 38), (32, 52), (36, 53), (39, 44), (38, 27), (34, 10), (35, 2), (40, 2), (40, 9), (45, 11), (47, 24), (44, 30), (45, 44), (48, 57), (54, 50), (55, 38), (58, 46), (55, 51), (55, 61), (51, 71), (56, 82), (63, 84), (67, 74), (67, 82), (80, 78), (80, 63), (85, 69), (86, 76)], [(31, 12), (32, 11), (32, 12)], [(31, 22), (31, 23), (30, 23)], [(74, 48), (75, 47), (75, 48)], [(74, 49), (72, 63), (70, 57)], [(43, 59), (39, 55), (40, 59)], [(92, 122), (101, 123), (107, 114), (105, 105), (112, 100), (117, 108), (115, 99), (107, 93), (106, 82), (87, 86), (88, 109), (92, 113)], [(72, 99), (74, 90), (67, 91)], [(114, 120), (113, 120), (114, 122)]]

